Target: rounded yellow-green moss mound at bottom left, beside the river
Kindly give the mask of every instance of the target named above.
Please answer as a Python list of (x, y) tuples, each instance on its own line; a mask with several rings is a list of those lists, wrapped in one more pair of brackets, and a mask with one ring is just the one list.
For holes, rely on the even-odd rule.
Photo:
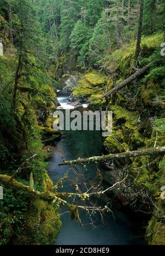
[(61, 228), (58, 208), (40, 199), (29, 203), (21, 236), (13, 237), (12, 244), (54, 244)]

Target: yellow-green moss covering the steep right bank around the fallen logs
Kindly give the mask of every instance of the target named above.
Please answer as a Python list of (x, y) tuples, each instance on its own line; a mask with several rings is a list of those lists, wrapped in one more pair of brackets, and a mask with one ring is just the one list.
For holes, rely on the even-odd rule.
[[(145, 66), (151, 61), (155, 61), (154, 65), (147, 71), (144, 79), (141, 81), (138, 79), (107, 98), (108, 107), (113, 111), (113, 134), (105, 140), (110, 153), (150, 148), (155, 145), (155, 142), (156, 146), (165, 145), (165, 125), (162, 118), (164, 116), (164, 67), (160, 58), (162, 41), (162, 33), (142, 37), (138, 66)], [(116, 71), (118, 82), (135, 72), (135, 47), (136, 42), (133, 41), (107, 57), (105, 66), (107, 70)], [(110, 74), (105, 92), (113, 88), (113, 79), (114, 77)], [(156, 118), (151, 120), (149, 116), (156, 116)], [(125, 165), (121, 161), (120, 166), (123, 164)], [(118, 166), (118, 163), (116, 165)], [(132, 181), (136, 180), (135, 189), (145, 188), (153, 200), (160, 199), (160, 188), (165, 184), (164, 175), (165, 162), (161, 156), (160, 158), (144, 156), (129, 159), (129, 178)], [(164, 211), (163, 202), (161, 207)], [(154, 214), (158, 215), (158, 212), (155, 211)], [(163, 221), (152, 217), (146, 239), (149, 244), (165, 244)]]

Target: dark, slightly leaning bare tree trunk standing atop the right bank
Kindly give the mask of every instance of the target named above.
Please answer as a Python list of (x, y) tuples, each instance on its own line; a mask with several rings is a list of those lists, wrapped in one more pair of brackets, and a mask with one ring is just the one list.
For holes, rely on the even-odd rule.
[(143, 8), (144, 8), (144, 0), (140, 0), (139, 27), (138, 27), (138, 38), (136, 42), (136, 50), (135, 50), (135, 60), (138, 59), (140, 54)]

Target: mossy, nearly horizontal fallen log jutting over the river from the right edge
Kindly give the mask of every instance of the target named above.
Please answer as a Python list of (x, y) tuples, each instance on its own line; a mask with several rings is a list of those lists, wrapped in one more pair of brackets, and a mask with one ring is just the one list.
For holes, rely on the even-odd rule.
[(144, 150), (137, 150), (137, 151), (128, 151), (128, 152), (118, 153), (118, 154), (107, 154), (105, 156), (90, 157), (85, 159), (79, 158), (73, 161), (64, 161), (63, 163), (60, 163), (59, 166), (67, 166), (67, 165), (72, 166), (73, 164), (105, 162), (107, 160), (126, 159), (130, 157), (141, 157), (141, 156), (152, 156), (155, 154), (163, 154), (163, 153), (165, 153), (165, 146), (147, 148)]

